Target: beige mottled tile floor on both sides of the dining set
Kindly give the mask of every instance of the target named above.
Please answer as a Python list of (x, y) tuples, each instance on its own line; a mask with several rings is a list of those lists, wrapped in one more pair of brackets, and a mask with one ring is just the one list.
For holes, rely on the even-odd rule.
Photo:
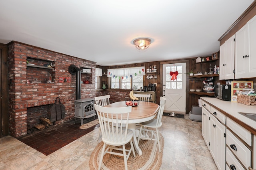
[[(160, 170), (217, 170), (202, 138), (202, 123), (162, 118), (164, 152)], [(98, 130), (74, 140), (48, 156), (14, 137), (0, 138), (0, 170), (88, 170), (90, 154), (100, 142)]]

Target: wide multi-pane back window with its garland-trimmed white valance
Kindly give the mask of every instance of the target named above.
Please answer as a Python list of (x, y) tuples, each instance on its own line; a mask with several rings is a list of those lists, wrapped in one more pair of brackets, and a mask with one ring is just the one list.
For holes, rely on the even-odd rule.
[(108, 69), (108, 77), (111, 79), (111, 88), (132, 89), (143, 87), (145, 67), (130, 67)]

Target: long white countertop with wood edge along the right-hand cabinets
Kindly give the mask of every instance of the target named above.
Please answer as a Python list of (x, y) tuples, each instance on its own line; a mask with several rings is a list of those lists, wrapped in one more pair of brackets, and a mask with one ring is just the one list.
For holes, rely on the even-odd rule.
[(230, 117), (231, 119), (232, 118), (233, 118), (233, 120), (237, 119), (238, 121), (234, 120), (237, 123), (239, 123), (239, 121), (241, 121), (245, 125), (248, 125), (252, 129), (250, 130), (250, 128), (249, 129), (246, 127), (245, 128), (248, 129), (254, 135), (256, 135), (256, 121), (249, 119), (249, 118), (241, 115), (240, 113), (238, 113), (238, 112), (246, 112), (246, 113), (256, 114), (256, 106), (247, 106), (245, 104), (224, 101), (224, 100), (220, 100), (218, 98), (201, 97), (201, 99), (203, 101), (209, 103), (210, 105), (214, 106), (215, 108), (221, 109), (222, 113), (225, 112), (224, 114), (226, 116)]

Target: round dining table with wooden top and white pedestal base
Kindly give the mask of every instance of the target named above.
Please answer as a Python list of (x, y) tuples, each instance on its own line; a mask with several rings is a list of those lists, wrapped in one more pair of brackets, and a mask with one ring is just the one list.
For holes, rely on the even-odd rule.
[[(125, 102), (116, 102), (104, 107), (128, 107)], [(132, 106), (130, 106), (132, 107)], [(129, 113), (128, 128), (134, 131), (133, 145), (138, 155), (142, 155), (142, 150), (139, 148), (136, 137), (138, 136), (138, 130), (136, 130), (136, 123), (149, 121), (153, 119), (159, 109), (159, 105), (152, 102), (140, 102), (138, 106), (132, 107), (132, 111)], [(137, 131), (137, 132), (136, 132)]]

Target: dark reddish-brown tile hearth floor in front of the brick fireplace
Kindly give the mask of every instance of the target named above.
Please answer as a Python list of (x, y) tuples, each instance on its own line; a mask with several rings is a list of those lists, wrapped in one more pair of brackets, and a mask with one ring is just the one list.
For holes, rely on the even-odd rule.
[[(84, 119), (83, 124), (93, 120), (94, 117)], [(42, 131), (35, 129), (32, 134), (17, 139), (47, 156), (99, 127), (98, 124), (88, 129), (79, 129), (80, 119), (76, 119), (75, 124), (74, 121), (75, 119), (72, 119), (59, 125), (52, 125)]]

